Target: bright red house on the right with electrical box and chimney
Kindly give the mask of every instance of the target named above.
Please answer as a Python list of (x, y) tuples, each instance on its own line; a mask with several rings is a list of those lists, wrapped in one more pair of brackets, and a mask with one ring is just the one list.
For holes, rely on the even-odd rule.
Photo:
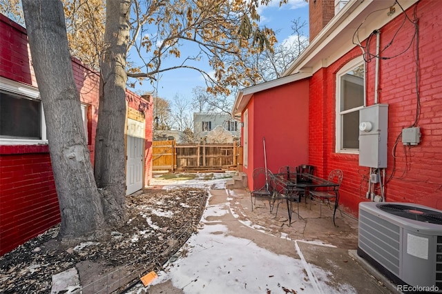
[(334, 2), (309, 1), (310, 44), (282, 78), (238, 92), (249, 188), (265, 138), (273, 172), (343, 170), (354, 215), (372, 193), (442, 209), (442, 1)]

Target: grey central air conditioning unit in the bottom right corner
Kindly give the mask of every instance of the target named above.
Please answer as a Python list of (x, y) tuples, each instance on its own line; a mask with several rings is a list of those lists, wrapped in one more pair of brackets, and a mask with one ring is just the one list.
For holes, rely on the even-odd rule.
[(442, 211), (361, 202), (358, 255), (398, 285), (432, 286), (442, 293)]

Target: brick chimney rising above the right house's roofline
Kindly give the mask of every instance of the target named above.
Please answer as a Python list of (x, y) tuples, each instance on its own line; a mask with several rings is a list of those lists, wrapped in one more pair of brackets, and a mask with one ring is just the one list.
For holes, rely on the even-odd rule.
[(309, 0), (310, 42), (334, 17), (334, 4), (335, 0)]

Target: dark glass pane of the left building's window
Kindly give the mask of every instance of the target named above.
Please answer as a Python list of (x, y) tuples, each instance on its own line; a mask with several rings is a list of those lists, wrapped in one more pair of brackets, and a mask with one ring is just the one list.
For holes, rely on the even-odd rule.
[(0, 137), (41, 139), (40, 104), (0, 92)]

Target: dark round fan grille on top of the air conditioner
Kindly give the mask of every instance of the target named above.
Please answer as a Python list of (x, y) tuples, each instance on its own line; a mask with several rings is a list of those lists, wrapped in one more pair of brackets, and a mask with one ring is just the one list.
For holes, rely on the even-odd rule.
[(397, 215), (398, 217), (405, 217), (430, 224), (442, 224), (442, 213), (433, 210), (400, 204), (378, 204), (376, 207), (392, 215)]

